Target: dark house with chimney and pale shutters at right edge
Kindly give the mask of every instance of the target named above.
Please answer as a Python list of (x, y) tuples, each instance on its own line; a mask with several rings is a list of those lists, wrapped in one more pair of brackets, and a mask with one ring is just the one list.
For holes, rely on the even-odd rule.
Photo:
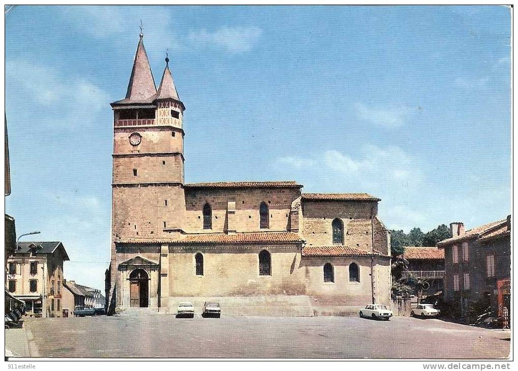
[(476, 302), (509, 310), (510, 291), (503, 290), (511, 274), (511, 216), (468, 231), (462, 222), (450, 228), (453, 237), (437, 244), (444, 250), (444, 300), (461, 316)]

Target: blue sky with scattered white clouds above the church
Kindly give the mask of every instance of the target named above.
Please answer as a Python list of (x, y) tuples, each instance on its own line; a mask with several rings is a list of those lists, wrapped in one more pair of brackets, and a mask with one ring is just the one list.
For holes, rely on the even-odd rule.
[(139, 23), (185, 103), (187, 182), (369, 192), (391, 229), (510, 213), (510, 13), (479, 7), (37, 7), (6, 15), (18, 234), (63, 241), (103, 289), (112, 111)]

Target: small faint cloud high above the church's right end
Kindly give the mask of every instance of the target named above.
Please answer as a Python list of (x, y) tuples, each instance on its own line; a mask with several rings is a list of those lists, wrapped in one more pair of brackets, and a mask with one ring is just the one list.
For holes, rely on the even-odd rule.
[(356, 115), (360, 120), (378, 126), (397, 128), (405, 125), (414, 109), (400, 105), (392, 107), (368, 107), (364, 103), (355, 104)]

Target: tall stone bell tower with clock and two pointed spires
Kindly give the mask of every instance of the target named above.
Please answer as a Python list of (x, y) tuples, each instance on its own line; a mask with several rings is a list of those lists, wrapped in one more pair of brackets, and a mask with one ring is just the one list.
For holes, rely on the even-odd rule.
[[(118, 243), (152, 243), (182, 230), (185, 212), (183, 111), (169, 70), (158, 91), (143, 35), (137, 45), (126, 97), (113, 109), (113, 182), (110, 298), (121, 259)], [(127, 251), (125, 248), (126, 258)]]

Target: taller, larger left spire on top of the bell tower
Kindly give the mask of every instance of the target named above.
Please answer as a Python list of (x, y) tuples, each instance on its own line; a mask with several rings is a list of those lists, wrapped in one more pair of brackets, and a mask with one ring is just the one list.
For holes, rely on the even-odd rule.
[(135, 102), (146, 101), (156, 94), (155, 80), (149, 66), (148, 55), (142, 42), (142, 26), (140, 26), (140, 40), (135, 53), (135, 61), (131, 71), (130, 82), (126, 92), (126, 99)]

